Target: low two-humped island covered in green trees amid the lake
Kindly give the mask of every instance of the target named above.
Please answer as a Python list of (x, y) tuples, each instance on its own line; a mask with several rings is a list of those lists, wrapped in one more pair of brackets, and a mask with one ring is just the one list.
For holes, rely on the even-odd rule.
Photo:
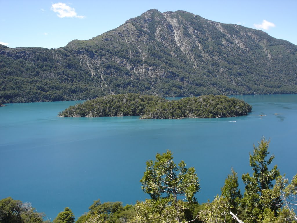
[(166, 100), (136, 93), (107, 95), (69, 106), (60, 117), (141, 116), (142, 119), (219, 118), (247, 115), (252, 106), (224, 95)]

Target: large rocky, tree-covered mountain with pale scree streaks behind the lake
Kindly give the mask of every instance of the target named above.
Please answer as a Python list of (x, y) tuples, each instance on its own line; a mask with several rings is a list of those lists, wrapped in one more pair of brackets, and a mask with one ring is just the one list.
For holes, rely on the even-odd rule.
[(149, 10), (65, 47), (0, 45), (0, 102), (297, 93), (297, 46), (185, 11)]

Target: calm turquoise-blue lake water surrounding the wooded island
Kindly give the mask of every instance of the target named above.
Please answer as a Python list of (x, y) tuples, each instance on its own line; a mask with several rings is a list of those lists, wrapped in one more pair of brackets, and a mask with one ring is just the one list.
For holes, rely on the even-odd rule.
[(195, 167), (202, 203), (220, 193), (231, 167), (244, 188), (241, 175), (252, 171), (249, 152), (262, 136), (271, 139), (273, 164), (292, 178), (297, 95), (237, 97), (253, 112), (219, 119), (61, 118), (58, 112), (77, 101), (7, 104), (0, 108), (0, 199), (31, 202), (52, 220), (65, 207), (79, 217), (98, 198), (134, 204), (148, 197), (139, 182), (146, 161), (169, 149), (177, 163)]

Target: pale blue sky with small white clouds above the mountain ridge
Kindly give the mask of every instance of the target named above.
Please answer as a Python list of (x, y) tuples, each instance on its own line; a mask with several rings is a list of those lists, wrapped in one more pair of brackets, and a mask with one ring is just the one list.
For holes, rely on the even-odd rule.
[(0, 0), (0, 44), (58, 48), (114, 29), (149, 9), (185, 10), (203, 18), (261, 29), (297, 45), (296, 0), (77, 1)]

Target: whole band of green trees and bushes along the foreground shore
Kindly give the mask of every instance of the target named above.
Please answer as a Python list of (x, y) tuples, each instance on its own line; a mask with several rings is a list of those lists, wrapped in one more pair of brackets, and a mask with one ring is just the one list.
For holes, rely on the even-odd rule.
[[(173, 154), (157, 154), (154, 161), (146, 162), (141, 178), (142, 189), (151, 199), (135, 205), (121, 202), (94, 201), (89, 212), (77, 223), (296, 223), (297, 174), (292, 180), (280, 175), (277, 165), (272, 166), (274, 155), (269, 156), (269, 141), (262, 138), (249, 154), (251, 174), (243, 174), (244, 193), (238, 189), (238, 176), (231, 168), (220, 194), (212, 201), (199, 204), (195, 194), (200, 191), (198, 174), (184, 161), (176, 164)], [(247, 169), (249, 171), (249, 169)], [(232, 215), (231, 215), (232, 213)], [(234, 216), (234, 217), (233, 217)], [(45, 215), (37, 213), (31, 203), (0, 200), (0, 223), (42, 223)], [(75, 216), (66, 207), (53, 223), (74, 223)]]

